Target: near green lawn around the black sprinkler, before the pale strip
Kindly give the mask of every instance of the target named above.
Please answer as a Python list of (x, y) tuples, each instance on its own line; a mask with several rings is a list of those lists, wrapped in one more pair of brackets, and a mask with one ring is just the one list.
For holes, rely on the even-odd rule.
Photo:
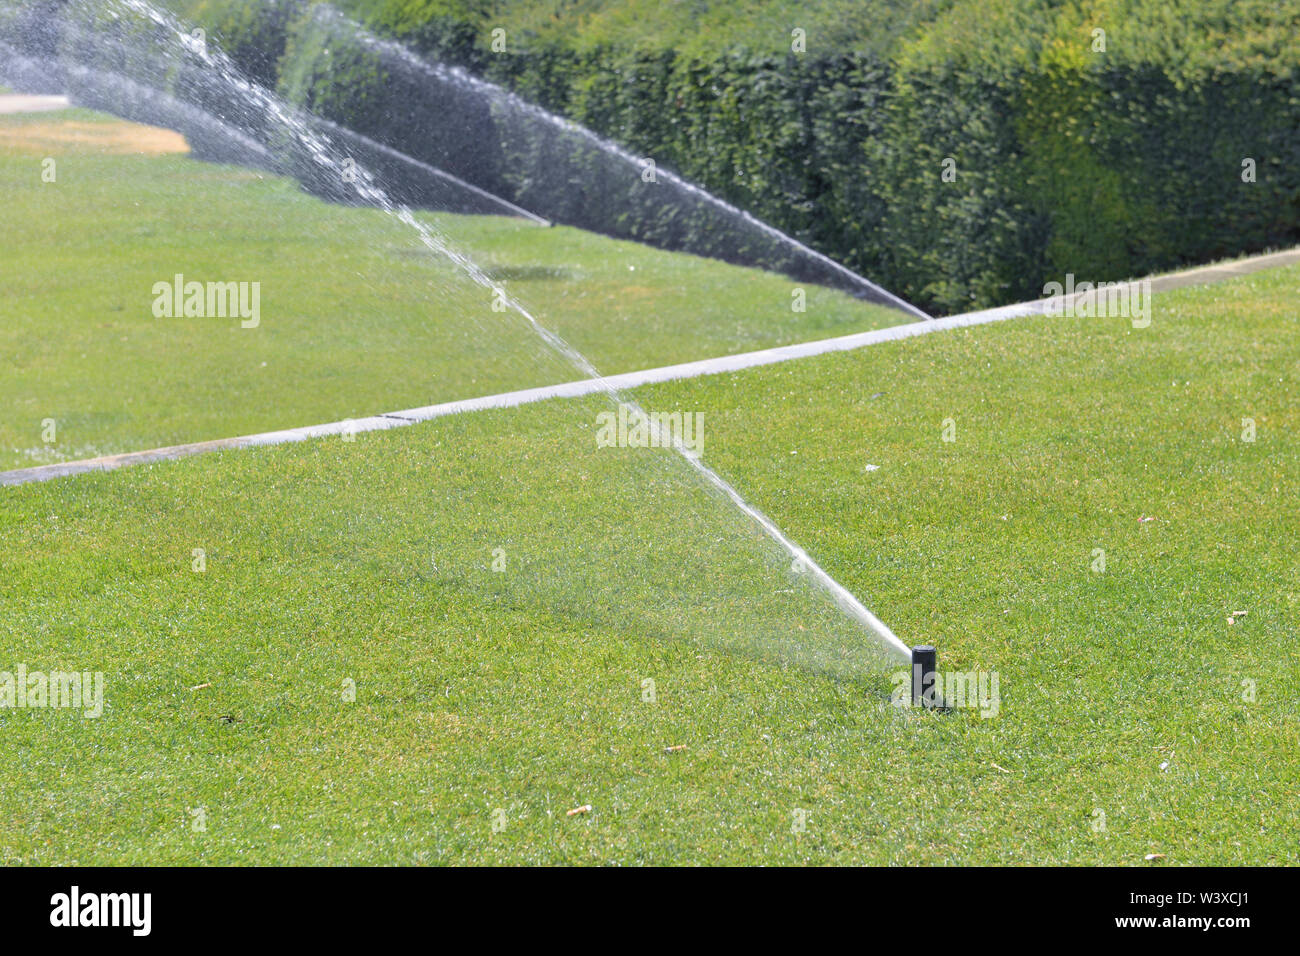
[(0, 667), (107, 702), (0, 711), (4, 861), (1294, 864), (1297, 284), (638, 395), (988, 719), (728, 648), (818, 617), (592, 403), (6, 489)]

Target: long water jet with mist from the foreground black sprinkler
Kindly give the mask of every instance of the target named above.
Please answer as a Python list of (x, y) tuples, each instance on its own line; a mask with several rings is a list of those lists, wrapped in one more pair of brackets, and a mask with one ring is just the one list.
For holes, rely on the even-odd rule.
[[(112, 109), (113, 98), (107, 91), (130, 94), (129, 99), (134, 104), (130, 111), (133, 118), (146, 118), (151, 108), (157, 108), (160, 112), (155, 114), (155, 121), (159, 122), (165, 121), (170, 111), (173, 118), (183, 113), (179, 118), (187, 125), (200, 124), (218, 135), (221, 130), (229, 127), (242, 144), (239, 147), (242, 151), (255, 156), (261, 156), (263, 152), (274, 156), (277, 168), (289, 170), (296, 178), (313, 181), (322, 190), (346, 186), (359, 202), (382, 209), (395, 222), (408, 228), (428, 252), (454, 263), (463, 276), (503, 302), (510, 315), (516, 317), (521, 334), (536, 337), (550, 355), (559, 356), (582, 376), (599, 377), (598, 369), (581, 352), (520, 304), (445, 234), (421, 221), (406, 206), (394, 203), (372, 172), (348, 161), (329, 134), (322, 131), (318, 121), (250, 81), (221, 51), (194, 43), (191, 31), (170, 14), (144, 0), (82, 1), (72, 4), (72, 8), (87, 20), (83, 23), (69, 23), (61, 47), (60, 65), (68, 81), (81, 85), (83, 91), (99, 90), (103, 94), (99, 100), (103, 108)], [(104, 29), (105, 26), (109, 29)], [(380, 44), (378, 40), (367, 42)], [(396, 48), (384, 46), (380, 48), (389, 56), (407, 56)], [(69, 61), (70, 57), (84, 57), (87, 62)], [(12, 55), (8, 62), (20, 60), (21, 57)], [(22, 82), (22, 70), (5, 66), (3, 59), (0, 70), (8, 70), (5, 77), (9, 82)], [(155, 95), (156, 91), (150, 91), (140, 82), (147, 75), (164, 73), (177, 78), (172, 96)], [(464, 78), (463, 82), (468, 83), (471, 79)], [(86, 98), (81, 99), (84, 101)], [(195, 112), (191, 114), (186, 111)], [(547, 122), (552, 120), (554, 117)], [(218, 125), (211, 126), (213, 122)], [(590, 134), (581, 131), (575, 135)], [(259, 148), (263, 152), (259, 152)], [(634, 160), (624, 156), (621, 161)], [(729, 208), (686, 183), (680, 183), (680, 189), (698, 194), (698, 202), (716, 204), (723, 211)], [(744, 217), (738, 211), (731, 211), (728, 215), (732, 213)], [(464, 311), (469, 313), (478, 308), (481, 302), (464, 306)], [(430, 320), (458, 319), (432, 316)], [(476, 320), (471, 316), (468, 321)], [(575, 468), (586, 470), (584, 473), (598, 475), (602, 486), (611, 488), (610, 497), (618, 498), (618, 506), (606, 512), (608, 524), (569, 527), (569, 546), (562, 554), (551, 555), (549, 574), (540, 571), (533, 576), (521, 576), (517, 579), (519, 584), (504, 584), (506, 579), (494, 581), (494, 587), (504, 594), (504, 600), (511, 604), (526, 600), (542, 601), (547, 606), (586, 607), (601, 602), (597, 600), (599, 596), (590, 589), (608, 587), (601, 581), (614, 575), (628, 583), (627, 596), (620, 598), (606, 593), (603, 600), (608, 602), (608, 607), (616, 610), (606, 609), (604, 617), (599, 611), (590, 614), (594, 619), (606, 620), (611, 627), (624, 631), (629, 631), (632, 624), (637, 623), (628, 619), (629, 614), (636, 617), (644, 611), (646, 618), (640, 623), (649, 626), (659, 622), (660, 627), (667, 627), (664, 622), (684, 620), (684, 606), (694, 604), (706, 610), (702, 615), (690, 617), (692, 636), (711, 644), (775, 657), (777, 661), (857, 674), (864, 667), (878, 666), (880, 652), (906, 657), (906, 645), (883, 622), (827, 574), (775, 522), (746, 501), (722, 475), (705, 464), (698, 454), (684, 447), (677, 436), (658, 431), (653, 419), (638, 403), (611, 388), (606, 390), (603, 407), (624, 407), (630, 410), (634, 419), (650, 423), (654, 438), (651, 444), (664, 451), (636, 455), (634, 462), (627, 453), (606, 455), (598, 460), (589, 451), (581, 454), (573, 451), (572, 438), (563, 436), (572, 434), (575, 419), (582, 423), (590, 421), (595, 408), (590, 402), (550, 402), (543, 411), (525, 414), (542, 415), (541, 421), (519, 419), (534, 429), (537, 434), (534, 440), (538, 444), (551, 444), (554, 457), (572, 454)], [(569, 446), (566, 447), (566, 444)], [(627, 479), (628, 468), (633, 471), (630, 481)], [(620, 471), (624, 476), (621, 480), (618, 479)], [(474, 483), (467, 485), (464, 494), (478, 496), (484, 490), (490, 489), (485, 489), (482, 483)], [(398, 502), (393, 502), (393, 506), (396, 507)], [(667, 541), (644, 540), (640, 532), (620, 525), (624, 509), (640, 515), (670, 506), (675, 516), (671, 524), (663, 528)], [(554, 515), (555, 522), (564, 522), (564, 506), (559, 501), (554, 503)], [(500, 511), (498, 503), (488, 501), (481, 511), (460, 515), (456, 527), (468, 535), (481, 524), (473, 537), (490, 540), (488, 525), (495, 522), (493, 533), (498, 536), (514, 533), (516, 538), (532, 538), (538, 549), (547, 546), (554, 549), (545, 544), (550, 538), (540, 533), (550, 532), (551, 528), (511, 531), (500, 524), (511, 519), (510, 511)], [(755, 551), (753, 559), (745, 558), (744, 554), (738, 554), (744, 550), (740, 542), (745, 540), (763, 540), (767, 546)], [(619, 549), (611, 550), (615, 544)], [(447, 550), (455, 551), (456, 548), (448, 545)], [(662, 554), (656, 555), (656, 551)], [(656, 558), (672, 555), (670, 564), (682, 570), (677, 584), (663, 585), (667, 610), (660, 607), (653, 611), (645, 606), (646, 594), (654, 593), (659, 583), (647, 584), (640, 578), (646, 574), (662, 574), (664, 567), (664, 562), (659, 561), (658, 564), (650, 566), (658, 567), (659, 571), (641, 568), (640, 563), (649, 559), (646, 555)], [(599, 574), (594, 564), (601, 566)], [(732, 581), (711, 578), (710, 568), (719, 567), (736, 568), (737, 579)], [(786, 572), (774, 578), (777, 568)], [(774, 581), (784, 581), (785, 587), (777, 588)], [(760, 598), (750, 597), (755, 591), (762, 592)], [(786, 605), (786, 611), (781, 611), (774, 604), (774, 596), (781, 594), (790, 596), (780, 598)], [(803, 594), (803, 598), (798, 598), (798, 594)], [(816, 610), (814, 605), (818, 602), (812, 601), (794, 611), (794, 618), (807, 620), (812, 630), (798, 624), (798, 630), (805, 633), (792, 633), (783, 614), (789, 613), (789, 602), (809, 601), (811, 594), (820, 594), (822, 604), (836, 609), (836, 613), (828, 615), (826, 607)]]

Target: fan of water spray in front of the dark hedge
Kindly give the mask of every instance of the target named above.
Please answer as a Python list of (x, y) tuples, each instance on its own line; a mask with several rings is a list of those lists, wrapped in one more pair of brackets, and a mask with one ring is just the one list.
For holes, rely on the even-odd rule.
[[(329, 57), (355, 52), (374, 61), (386, 98), (381, 111), (359, 111), (346, 100), (313, 108), (335, 111), (333, 118), (364, 126), (374, 139), (398, 140), (389, 144), (480, 186), (511, 190), (515, 203), (556, 222), (784, 272), (930, 319), (868, 278), (654, 165), (653, 157), (634, 156), (495, 83), (381, 39), (329, 4), (309, 16), (304, 33), (324, 44)], [(402, 121), (386, 121), (386, 113)], [(447, 127), (450, 135), (428, 135), (434, 127)]]

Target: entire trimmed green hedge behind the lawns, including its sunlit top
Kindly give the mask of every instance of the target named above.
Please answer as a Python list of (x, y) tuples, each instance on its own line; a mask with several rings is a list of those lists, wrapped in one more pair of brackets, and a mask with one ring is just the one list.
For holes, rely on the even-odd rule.
[[(448, 66), (395, 68), (315, 0), (170, 1), (294, 101), (543, 216), (796, 268)], [(1300, 241), (1300, 0), (338, 3), (932, 311)], [(718, 43), (728, 17), (758, 46)], [(783, 49), (803, 21), (809, 52)]]

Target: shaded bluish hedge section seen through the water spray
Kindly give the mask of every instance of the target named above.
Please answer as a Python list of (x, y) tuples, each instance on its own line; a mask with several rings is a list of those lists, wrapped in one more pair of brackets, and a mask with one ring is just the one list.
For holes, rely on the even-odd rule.
[(281, 91), (546, 219), (879, 297), (641, 156), (465, 70), (412, 57), (325, 7), (290, 30)]

